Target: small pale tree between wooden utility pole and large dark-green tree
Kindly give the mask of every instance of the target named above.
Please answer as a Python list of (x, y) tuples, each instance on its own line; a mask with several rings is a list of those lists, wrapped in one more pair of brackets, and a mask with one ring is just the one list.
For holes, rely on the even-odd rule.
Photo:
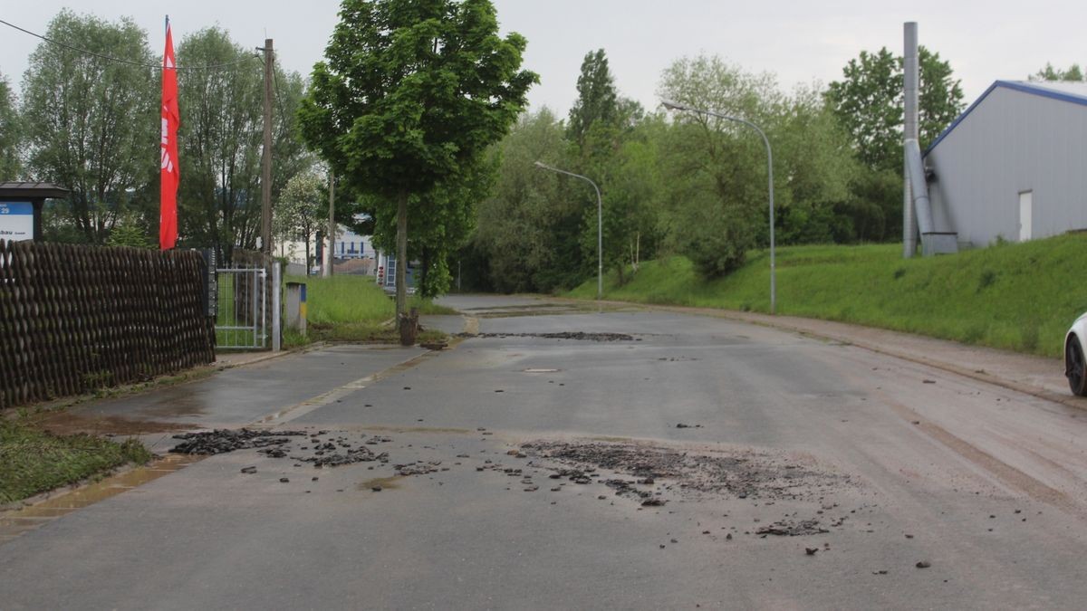
[(309, 171), (291, 176), (279, 194), (273, 210), (273, 229), (285, 240), (301, 240), (305, 248), (305, 269), (313, 267), (315, 254), (310, 245), (318, 229), (327, 223), (328, 180), (318, 172)]

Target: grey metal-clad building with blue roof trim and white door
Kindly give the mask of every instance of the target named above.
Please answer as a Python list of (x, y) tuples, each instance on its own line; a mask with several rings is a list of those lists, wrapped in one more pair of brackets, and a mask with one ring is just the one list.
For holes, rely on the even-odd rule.
[(1087, 228), (1087, 84), (994, 83), (925, 166), (934, 228), (960, 247)]

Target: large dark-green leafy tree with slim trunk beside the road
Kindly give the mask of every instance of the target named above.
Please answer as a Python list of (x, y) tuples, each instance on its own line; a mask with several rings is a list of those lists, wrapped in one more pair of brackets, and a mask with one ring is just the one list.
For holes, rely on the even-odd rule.
[[(521, 70), (525, 39), (498, 35), (489, 0), (343, 0), (340, 23), (313, 68), (299, 111), (302, 135), (352, 191), (397, 219), (397, 260), (408, 260), (408, 216), (440, 216), (427, 198), (500, 139), (538, 77)], [(436, 214), (437, 213), (437, 214)], [(397, 312), (405, 308), (397, 265)]]

